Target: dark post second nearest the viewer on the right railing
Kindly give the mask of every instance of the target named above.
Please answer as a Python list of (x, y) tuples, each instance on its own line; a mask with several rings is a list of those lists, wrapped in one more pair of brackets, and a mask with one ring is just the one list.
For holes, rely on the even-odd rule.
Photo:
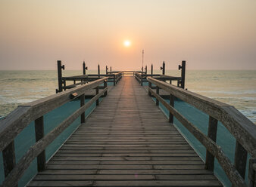
[[(217, 119), (209, 116), (208, 137), (211, 138), (214, 142), (216, 142), (217, 137), (217, 124)], [(206, 170), (214, 171), (214, 155), (211, 155), (211, 153), (208, 151), (206, 151), (204, 168)]]

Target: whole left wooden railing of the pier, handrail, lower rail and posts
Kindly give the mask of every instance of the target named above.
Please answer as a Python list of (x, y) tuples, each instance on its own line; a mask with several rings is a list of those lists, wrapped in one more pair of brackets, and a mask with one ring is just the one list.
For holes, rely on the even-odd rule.
[[(96, 103), (96, 106), (98, 106), (98, 99), (101, 95), (107, 96), (107, 81), (108, 78), (100, 78), (88, 84), (83, 84), (80, 87), (74, 87), (70, 90), (18, 106), (14, 112), (11, 112), (5, 119), (0, 121), (0, 152), (3, 155), (5, 170), (5, 180), (2, 186), (17, 186), (19, 179), (35, 158), (37, 158), (37, 169), (39, 171), (45, 169), (46, 147), (79, 116), (81, 117), (81, 123), (85, 122), (86, 109), (89, 109), (89, 106), (92, 106), (93, 103)], [(100, 87), (101, 84), (104, 84), (104, 87)], [(95, 97), (92, 97), (89, 102), (85, 103), (85, 91), (93, 88), (96, 90)], [(99, 91), (100, 88), (102, 89), (101, 91)], [(80, 99), (80, 108), (48, 134), (44, 135), (43, 115), (76, 98)], [(31, 121), (35, 121), (36, 143), (30, 147), (16, 164), (14, 139)]]

